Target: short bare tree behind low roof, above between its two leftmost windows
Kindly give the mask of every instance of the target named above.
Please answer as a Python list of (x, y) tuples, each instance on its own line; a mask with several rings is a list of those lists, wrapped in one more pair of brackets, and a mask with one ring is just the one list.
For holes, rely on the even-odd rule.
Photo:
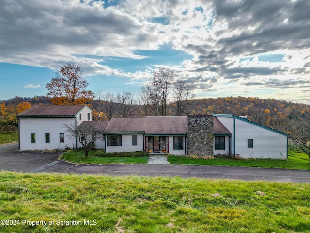
[(116, 101), (118, 103), (117, 112), (120, 116), (128, 117), (132, 114), (132, 107), (135, 104), (134, 94), (130, 91), (124, 91), (123, 93), (117, 92)]

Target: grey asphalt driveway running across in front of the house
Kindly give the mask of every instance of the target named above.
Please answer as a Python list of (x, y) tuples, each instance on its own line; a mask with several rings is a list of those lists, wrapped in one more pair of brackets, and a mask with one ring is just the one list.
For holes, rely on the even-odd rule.
[(180, 176), (212, 179), (310, 183), (309, 170), (200, 165), (87, 165), (58, 160), (59, 152), (21, 152), (18, 145), (0, 146), (0, 170), (35, 173)]

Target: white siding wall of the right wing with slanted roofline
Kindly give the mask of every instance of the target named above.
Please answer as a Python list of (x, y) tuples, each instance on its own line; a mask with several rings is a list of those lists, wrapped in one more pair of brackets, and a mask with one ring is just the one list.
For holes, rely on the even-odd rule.
[[(241, 157), (286, 159), (285, 135), (239, 119), (235, 119), (235, 131), (235, 153)], [(248, 139), (253, 139), (253, 148), (248, 148)]]

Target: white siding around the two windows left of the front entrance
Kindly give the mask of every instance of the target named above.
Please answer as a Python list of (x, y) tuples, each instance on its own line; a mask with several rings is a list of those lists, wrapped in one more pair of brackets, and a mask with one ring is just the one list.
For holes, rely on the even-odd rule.
[[(134, 135), (137, 135), (137, 134), (134, 134)], [(109, 135), (109, 136), (112, 136), (112, 135)], [(143, 151), (143, 145), (144, 145), (143, 134), (138, 134), (137, 144), (138, 144), (137, 146), (132, 145), (132, 134), (123, 134), (122, 135), (122, 146), (107, 146), (107, 140), (106, 140), (106, 152), (109, 153), (109, 152)]]

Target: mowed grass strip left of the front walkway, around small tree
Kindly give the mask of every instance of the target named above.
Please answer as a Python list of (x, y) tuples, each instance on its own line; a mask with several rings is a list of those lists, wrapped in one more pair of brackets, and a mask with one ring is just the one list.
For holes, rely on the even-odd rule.
[(84, 164), (147, 164), (149, 156), (142, 157), (102, 157), (95, 156), (95, 151), (90, 151), (85, 158), (83, 150), (72, 150), (62, 155), (62, 159)]

